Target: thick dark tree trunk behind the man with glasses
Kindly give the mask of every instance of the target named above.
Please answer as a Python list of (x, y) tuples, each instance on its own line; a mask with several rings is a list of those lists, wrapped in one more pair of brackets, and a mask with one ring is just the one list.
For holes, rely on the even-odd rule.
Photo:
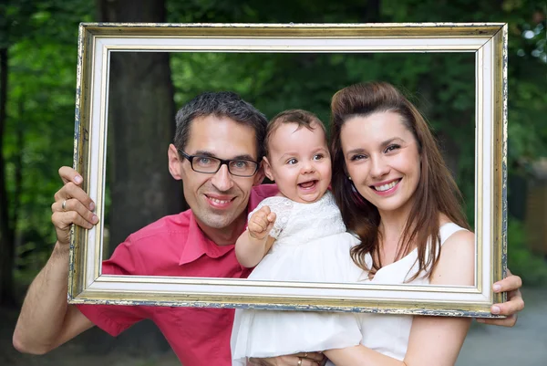
[[(165, 21), (163, 0), (100, 0), (100, 21)], [(108, 90), (110, 253), (131, 233), (183, 208), (168, 170), (175, 106), (169, 54), (114, 52)], [(106, 223), (108, 224), (108, 223)]]

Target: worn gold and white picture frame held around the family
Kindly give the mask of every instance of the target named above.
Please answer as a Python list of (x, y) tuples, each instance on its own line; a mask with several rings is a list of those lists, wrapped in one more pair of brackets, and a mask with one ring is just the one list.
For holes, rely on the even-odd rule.
[(74, 167), (102, 223), (111, 51), (473, 52), (476, 55), (475, 287), (264, 282), (101, 275), (102, 225), (71, 232), (68, 301), (496, 317), (491, 284), (506, 271), (507, 25), (82, 24)]

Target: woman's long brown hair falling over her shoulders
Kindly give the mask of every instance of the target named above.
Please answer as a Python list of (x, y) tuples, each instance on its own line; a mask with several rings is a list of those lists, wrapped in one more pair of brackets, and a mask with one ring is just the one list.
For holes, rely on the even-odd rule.
[[(356, 233), (361, 240), (358, 246), (353, 247), (351, 256), (357, 266), (369, 271), (369, 276), (374, 276), (382, 267), (378, 230), (380, 214), (377, 207), (366, 201), (347, 178), (340, 131), (346, 120), (353, 117), (391, 111), (401, 116), (405, 127), (414, 135), (421, 157), (421, 173), (395, 260), (407, 256), (415, 244), (419, 270), (408, 281), (417, 278), (422, 271), (428, 277), (439, 261), (440, 247), (428, 246), (428, 242), (439, 242), (439, 215), (445, 214), (451, 222), (469, 228), (461, 209), (461, 193), (439, 152), (428, 123), (408, 99), (386, 82), (356, 84), (337, 91), (331, 110), (333, 193), (347, 229)], [(371, 268), (366, 266), (366, 253), (372, 256)]]

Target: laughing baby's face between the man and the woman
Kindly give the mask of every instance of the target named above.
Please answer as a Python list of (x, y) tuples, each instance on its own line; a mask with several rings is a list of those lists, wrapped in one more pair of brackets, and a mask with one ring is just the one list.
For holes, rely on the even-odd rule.
[(311, 204), (325, 194), (331, 181), (331, 159), (323, 129), (313, 131), (295, 123), (282, 124), (269, 141), (265, 173), (285, 197)]

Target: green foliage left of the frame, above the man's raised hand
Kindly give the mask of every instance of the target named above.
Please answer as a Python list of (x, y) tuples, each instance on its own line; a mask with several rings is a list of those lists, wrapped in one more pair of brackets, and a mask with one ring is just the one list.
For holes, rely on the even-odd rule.
[[(50, 221), (57, 167), (72, 164), (77, 24), (91, 19), (85, 1), (8, 1), (0, 47), (8, 49), (4, 157), (16, 266), (36, 272), (55, 243)], [(17, 180), (20, 176), (20, 181)]]

